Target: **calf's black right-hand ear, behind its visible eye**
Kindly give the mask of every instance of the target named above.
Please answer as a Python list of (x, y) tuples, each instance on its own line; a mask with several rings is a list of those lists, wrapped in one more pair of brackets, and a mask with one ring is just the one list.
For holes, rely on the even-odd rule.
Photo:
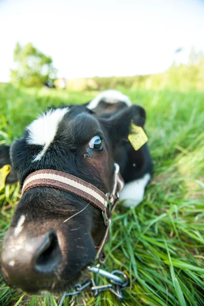
[(108, 119), (101, 119), (100, 122), (108, 130), (108, 137), (113, 146), (121, 140), (126, 140), (131, 132), (131, 123), (137, 126), (144, 127), (146, 113), (144, 108), (138, 105), (133, 105), (129, 108), (118, 112), (116, 115)]

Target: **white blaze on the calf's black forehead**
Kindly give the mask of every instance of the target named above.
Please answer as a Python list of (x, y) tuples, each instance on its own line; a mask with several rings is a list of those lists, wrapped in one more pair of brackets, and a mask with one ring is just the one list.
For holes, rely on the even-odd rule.
[(59, 122), (69, 111), (68, 108), (51, 109), (34, 120), (27, 128), (29, 136), (27, 143), (43, 145), (43, 149), (34, 158), (33, 162), (39, 161), (46, 153), (57, 132)]

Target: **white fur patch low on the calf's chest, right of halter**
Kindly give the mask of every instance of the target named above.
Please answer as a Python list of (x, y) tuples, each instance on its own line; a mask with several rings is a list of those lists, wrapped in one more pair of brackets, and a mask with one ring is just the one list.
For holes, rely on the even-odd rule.
[(150, 174), (146, 173), (142, 179), (125, 184), (123, 190), (120, 192), (120, 200), (124, 200), (122, 206), (138, 206), (143, 200), (145, 186), (148, 184), (150, 177)]

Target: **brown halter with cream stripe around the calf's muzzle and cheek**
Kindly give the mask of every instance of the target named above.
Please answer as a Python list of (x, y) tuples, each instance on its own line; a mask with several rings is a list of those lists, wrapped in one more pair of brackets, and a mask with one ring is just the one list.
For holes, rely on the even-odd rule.
[(108, 238), (111, 212), (114, 211), (117, 200), (119, 199), (119, 191), (121, 191), (124, 186), (124, 181), (119, 173), (120, 167), (116, 163), (114, 165), (114, 186), (112, 191), (108, 194), (104, 194), (97, 187), (79, 179), (77, 176), (51, 169), (38, 170), (28, 175), (22, 186), (21, 192), (21, 195), (24, 195), (28, 190), (34, 187), (56, 188), (75, 194), (98, 208), (102, 212), (106, 225), (105, 234), (99, 247), (97, 247), (96, 259), (99, 260), (100, 263), (104, 263), (105, 261), (104, 245)]

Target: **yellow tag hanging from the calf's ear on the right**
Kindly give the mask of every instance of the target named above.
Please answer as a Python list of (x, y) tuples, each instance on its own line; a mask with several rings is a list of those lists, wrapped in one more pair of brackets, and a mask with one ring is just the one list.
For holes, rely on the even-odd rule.
[(127, 136), (134, 150), (139, 150), (147, 141), (148, 137), (141, 126), (131, 123), (131, 134)]

